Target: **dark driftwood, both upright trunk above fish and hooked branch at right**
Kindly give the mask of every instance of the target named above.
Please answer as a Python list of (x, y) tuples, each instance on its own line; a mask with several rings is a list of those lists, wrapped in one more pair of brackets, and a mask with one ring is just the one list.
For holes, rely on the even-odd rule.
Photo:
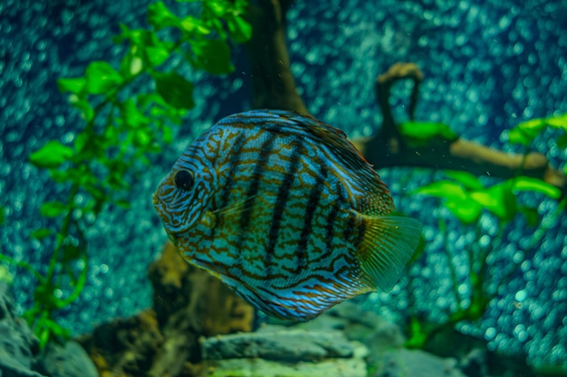
[[(285, 43), (285, 11), (289, 0), (259, 0), (252, 7), (254, 27), (248, 52), (252, 67), (255, 108), (291, 109), (309, 114), (295, 89)], [(510, 178), (524, 174), (567, 189), (567, 179), (553, 169), (545, 156), (507, 154), (463, 138), (444, 140), (432, 138), (427, 146), (408, 147), (399, 135), (389, 107), (389, 90), (397, 80), (413, 80), (414, 90), (409, 104), (409, 116), (418, 101), (419, 83), (423, 74), (412, 63), (394, 64), (376, 80), (378, 104), (384, 115), (380, 132), (373, 137), (352, 140), (376, 169), (389, 166), (416, 166), (432, 169), (463, 170), (476, 175)]]

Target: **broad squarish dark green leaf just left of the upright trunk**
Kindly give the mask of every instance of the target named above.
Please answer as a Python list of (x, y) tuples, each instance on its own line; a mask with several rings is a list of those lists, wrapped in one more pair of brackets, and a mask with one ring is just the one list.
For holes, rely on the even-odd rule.
[(225, 41), (209, 39), (191, 43), (197, 68), (212, 74), (226, 74), (235, 71), (230, 62), (230, 48)]

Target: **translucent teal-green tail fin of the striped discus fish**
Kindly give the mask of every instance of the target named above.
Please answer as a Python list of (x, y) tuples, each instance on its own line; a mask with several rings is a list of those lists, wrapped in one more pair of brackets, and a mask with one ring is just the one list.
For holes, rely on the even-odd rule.
[(363, 282), (389, 291), (418, 247), (421, 222), (400, 216), (362, 215), (365, 233), (357, 252)]

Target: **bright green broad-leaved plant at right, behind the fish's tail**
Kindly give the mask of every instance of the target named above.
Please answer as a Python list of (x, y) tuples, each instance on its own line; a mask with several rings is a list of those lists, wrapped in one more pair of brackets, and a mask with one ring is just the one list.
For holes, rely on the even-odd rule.
[[(567, 114), (521, 123), (509, 132), (509, 140), (512, 143), (524, 145), (524, 156), (527, 156), (534, 140), (542, 135), (546, 127), (567, 131)], [(567, 148), (567, 132), (557, 137), (555, 141), (557, 146)], [(565, 169), (567, 173), (567, 167)], [(448, 245), (445, 245), (444, 250), (447, 254), (447, 266), (456, 306), (440, 323), (436, 323), (435, 320), (430, 322), (430, 318), (411, 316), (407, 325), (408, 341), (406, 343), (411, 348), (423, 348), (434, 335), (447, 328), (453, 328), (462, 321), (474, 322), (481, 319), (490, 301), (496, 297), (499, 288), (505, 287), (522, 262), (532, 257), (546, 232), (552, 228), (567, 205), (567, 198), (559, 188), (531, 177), (518, 175), (504, 182), (485, 186), (473, 174), (453, 171), (444, 173), (449, 179), (428, 184), (416, 190), (414, 194), (439, 198), (463, 226), (474, 229), (475, 240), (481, 240), (485, 235), (481, 226), (483, 212), (493, 216), (500, 226), (492, 242), (487, 242), (484, 246), (481, 246), (480, 242), (466, 246), (468, 276), (465, 282), (457, 278), (456, 259), (449, 252)], [(526, 192), (541, 194), (558, 201), (558, 205), (547, 221), (539, 220), (537, 209), (521, 203), (518, 193)], [(528, 225), (537, 226), (537, 228), (533, 231), (528, 246), (524, 248), (523, 258), (507, 263), (507, 270), (497, 281), (494, 281), (494, 276), (489, 273), (488, 261), (491, 259), (491, 254), (497, 252), (502, 244), (506, 225), (520, 214), (525, 216)], [(447, 234), (445, 220), (439, 220), (438, 228), (441, 234)], [(445, 240), (447, 242), (447, 237)], [(467, 297), (464, 297), (464, 294), (459, 291), (459, 286), (463, 284), (470, 287), (466, 290)], [(412, 289), (409, 287), (410, 301), (415, 303), (416, 297), (411, 297), (411, 292)]]

